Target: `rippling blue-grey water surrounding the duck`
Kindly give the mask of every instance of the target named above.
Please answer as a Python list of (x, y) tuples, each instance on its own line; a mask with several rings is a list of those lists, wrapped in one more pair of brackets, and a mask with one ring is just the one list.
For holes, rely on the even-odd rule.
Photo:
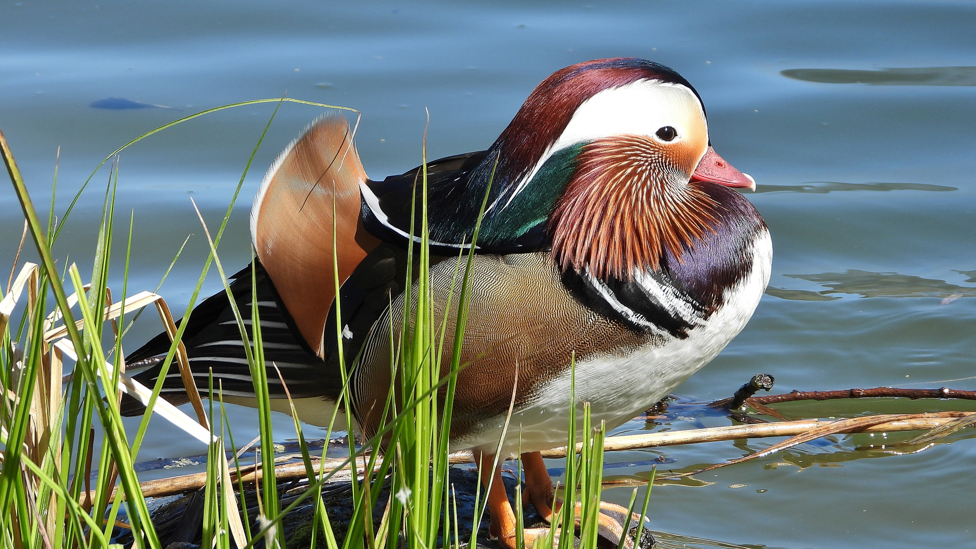
[[(550, 72), (617, 56), (661, 61), (695, 85), (715, 149), (755, 176), (758, 192), (749, 198), (773, 235), (770, 293), (746, 331), (679, 394), (722, 398), (760, 372), (774, 374), (784, 392), (976, 389), (973, 2), (0, 0), (0, 129), (42, 205), (61, 147), (59, 211), (129, 139), (205, 108), (285, 94), (360, 110), (357, 144), (378, 178), (420, 163), (426, 108), (430, 158), (483, 149)], [(183, 310), (206, 254), (189, 198), (212, 226), (219, 222), (271, 110), (223, 111), (122, 154), (117, 211), (136, 217), (131, 289), (154, 289), (193, 233), (160, 290)], [(228, 225), (227, 268), (249, 259), (247, 212), (264, 170), (321, 112), (292, 104), (279, 111)], [(77, 261), (82, 272), (91, 268), (107, 177), (95, 177), (59, 242), (61, 261)], [(22, 220), (7, 186), (0, 205), (0, 272), (7, 272)], [(120, 291), (121, 272), (116, 280)], [(210, 279), (204, 293), (219, 290)], [(133, 329), (131, 348), (158, 332), (151, 316)], [(790, 410), (830, 416), (905, 406), (949, 405)], [(250, 440), (253, 413), (232, 413), (235, 438)], [(290, 419), (279, 418), (278, 427), (287, 438)], [(162, 421), (151, 429), (141, 458), (201, 451)], [(796, 549), (976, 547), (976, 443), (956, 437), (891, 455), (871, 450), (866, 437), (720, 469), (701, 476), (700, 484), (712, 484), (698, 488), (657, 487), (652, 524)], [(693, 468), (768, 444), (622, 452), (608, 462), (663, 454), (667, 467)], [(633, 469), (607, 473), (646, 476), (646, 467)], [(629, 496), (608, 492), (625, 503)]]

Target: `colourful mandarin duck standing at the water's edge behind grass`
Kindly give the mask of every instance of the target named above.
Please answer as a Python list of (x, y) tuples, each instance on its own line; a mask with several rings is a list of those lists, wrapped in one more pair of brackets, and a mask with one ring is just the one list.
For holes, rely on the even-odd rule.
[[(273, 410), (290, 409), (272, 363), (301, 419), (327, 425), (343, 387), (342, 352), (348, 364), (359, 357), (352, 426), (367, 438), (379, 429), (392, 383), (389, 340), (400, 330), (389, 320), (403, 313), (406, 250), (419, 240), (411, 219), (422, 169), (369, 179), (346, 119), (332, 116), (311, 124), (267, 172), (251, 212), (257, 259), (230, 290), (249, 323), (256, 281)], [(514, 546), (516, 523), (494, 454), (521, 451), (526, 500), (550, 519), (540, 451), (565, 444), (574, 360), (577, 399), (609, 429), (665, 397), (746, 326), (769, 280), (772, 246), (755, 208), (729, 187), (754, 190), (755, 182), (712, 149), (695, 89), (664, 65), (632, 58), (556, 71), (488, 150), (428, 163), (434, 318), (487, 204), (450, 447), (472, 450), (482, 478), (494, 478), (490, 531), (504, 547)], [(448, 316), (454, 322), (456, 311)], [(206, 388), (212, 372), (226, 401), (253, 406), (227, 295), (204, 300), (188, 322), (183, 342), (197, 385)], [(444, 344), (452, 348), (450, 335)], [(149, 367), (137, 379), (155, 382), (169, 346), (161, 333), (127, 358)], [(167, 375), (162, 395), (185, 402), (180, 373)], [(142, 412), (133, 400), (123, 410)], [(537, 534), (526, 530), (526, 539)]]

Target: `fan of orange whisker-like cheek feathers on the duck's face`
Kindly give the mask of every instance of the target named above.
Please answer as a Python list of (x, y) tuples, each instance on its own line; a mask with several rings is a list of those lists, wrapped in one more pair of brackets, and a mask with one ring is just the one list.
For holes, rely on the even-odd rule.
[(637, 268), (657, 269), (666, 249), (679, 256), (693, 246), (714, 219), (712, 199), (686, 184), (697, 144), (615, 136), (586, 145), (550, 224), (560, 266), (630, 279)]

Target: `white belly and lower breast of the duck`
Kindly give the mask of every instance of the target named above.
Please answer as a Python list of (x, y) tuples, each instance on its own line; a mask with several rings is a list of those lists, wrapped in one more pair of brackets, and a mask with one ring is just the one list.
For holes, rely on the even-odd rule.
[[(663, 345), (649, 344), (628, 355), (577, 363), (576, 396), (580, 402), (590, 402), (593, 425), (600, 421), (606, 421), (608, 429), (622, 425), (712, 361), (746, 327), (769, 282), (771, 268), (772, 242), (764, 231), (753, 245), (750, 274), (726, 291), (723, 306), (703, 325), (689, 330), (688, 337), (672, 338)], [(501, 453), (513, 455), (565, 445), (570, 390), (571, 375), (566, 372), (538, 391), (539, 397), (513, 412)], [(582, 407), (577, 417), (582, 425)], [(494, 453), (505, 419), (502, 415), (486, 420), (476, 434), (453, 441), (451, 450), (473, 448)], [(580, 436), (582, 432), (577, 440)]]

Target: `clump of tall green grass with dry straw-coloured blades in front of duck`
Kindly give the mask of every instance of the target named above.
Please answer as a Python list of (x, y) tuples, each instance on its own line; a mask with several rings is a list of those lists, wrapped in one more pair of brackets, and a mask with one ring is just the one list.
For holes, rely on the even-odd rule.
[[(225, 105), (188, 116), (133, 139), (114, 151), (108, 159), (144, 137), (203, 114), (260, 102), (277, 101), (280, 106), (285, 100), (331, 107), (295, 99), (262, 99)], [(268, 120), (268, 126), (273, 118), (272, 115)], [(199, 280), (183, 314), (184, 319), (191, 314), (212, 264), (217, 266), (226, 292), (230, 292), (217, 250), (227, 219), (266, 131), (267, 126), (240, 177), (220, 228), (212, 236), (204, 223), (210, 255), (203, 264)], [(346, 461), (365, 465), (365, 474), (361, 479), (352, 476), (352, 520), (345, 535), (340, 538), (331, 527), (329, 509), (321, 494), (322, 486), (332, 478), (335, 471), (325, 472), (321, 461), (316, 468), (298, 419), (295, 420), (295, 430), (309, 479), (308, 490), (291, 505), (280, 508), (274, 479), (274, 452), (261, 452), (264, 476), (260, 483), (263, 490), (259, 487), (260, 519), (256, 526), (247, 525), (241, 521), (243, 502), (236, 495), (243, 493), (244, 487), (239, 477), (235, 481), (231, 476), (240, 464), (236, 457), (233, 458), (233, 466), (226, 459), (227, 448), (232, 449), (235, 446), (224, 413), (221, 387), (212, 385), (209, 388), (209, 410), (204, 409), (199, 398), (192, 399), (197, 421), (206, 429), (202, 434), (201, 427), (194, 425), (192, 419), (179, 417), (180, 412), (169, 410), (168, 405), (158, 399), (162, 380), (174, 360), (178, 365), (181, 361), (185, 362), (180, 338), (188, 323), (183, 322), (177, 328), (172, 323), (168, 307), (158, 296), (149, 294), (150, 296), (138, 298), (142, 295), (139, 294), (132, 299), (125, 298), (129, 290), (129, 256), (132, 250), (134, 216), (129, 218), (127, 253), (122, 276), (123, 298), (118, 303), (111, 302), (108, 280), (112, 266), (110, 251), (115, 243), (115, 189), (118, 183), (116, 166), (112, 166), (105, 189), (92, 274), (89, 282), (85, 283), (75, 264), (60, 272), (51, 250), (64, 220), (88, 181), (61, 216), (60, 223), (56, 223), (54, 215), (53, 193), (49, 216), (47, 222), (43, 223), (30, 200), (14, 156), (0, 134), (0, 152), (20, 199), (27, 230), (41, 258), (39, 265), (28, 265), (17, 282), (8, 285), (13, 288), (7, 289), (8, 297), (0, 303), (0, 444), (3, 446), (3, 451), (0, 452), (0, 517), (9, 518), (0, 521), (0, 547), (105, 547), (109, 545), (124, 506), (124, 515), (128, 519), (125, 527), (133, 532), (133, 546), (161, 548), (162, 540), (152, 525), (152, 518), (133, 468), (153, 412), (164, 412), (174, 421), (183, 421), (186, 429), (195, 432), (198, 438), (208, 444), (203, 546), (250, 547), (264, 543), (265, 547), (283, 547), (285, 539), (282, 529), (279, 528), (282, 518), (309, 498), (314, 503), (315, 510), (309, 528), (311, 532), (321, 534), (328, 549), (339, 549), (340, 546), (343, 549), (432, 549), (437, 546), (461, 549), (466, 542), (473, 546), (486, 498), (478, 494), (472, 536), (469, 540), (462, 541), (458, 535), (459, 518), (456, 501), (452, 499), (448, 465), (454, 386), (457, 373), (464, 368), (460, 358), (461, 343), (465, 333), (473, 252), (468, 254), (467, 261), (463, 255), (459, 256), (455, 273), (456, 284), (452, 286), (448, 305), (442, 309), (450, 311), (454, 306), (458, 311), (458, 320), (454, 325), (454, 346), (449, 349), (449, 354), (445, 354), (445, 334), (450, 323), (447, 318), (435, 317), (429, 285), (426, 146), (424, 150), (424, 184), (420, 196), (415, 196), (415, 200), (421, 202), (420, 211), (423, 214), (419, 224), (412, 224), (420, 227), (422, 243), (416, 252), (409, 252), (407, 269), (408, 273), (414, 272), (412, 267), (416, 264), (419, 275), (416, 280), (407, 281), (404, 296), (404, 302), (414, 303), (414, 306), (403, 307), (402, 318), (396, 319), (396, 322), (401, 323), (399, 333), (402, 336), (390, 341), (391, 349), (395, 351), (392, 353), (394, 361), (391, 368), (396, 373), (394, 378), (399, 380), (399, 390), (395, 391), (394, 387), (390, 387), (386, 399), (388, 420), (373, 439), (363, 441), (361, 447), (357, 448), (353, 438), (348, 437)], [(102, 162), (100, 168), (108, 159)], [(483, 209), (484, 204), (482, 211)], [(475, 241), (478, 228), (473, 236)], [(335, 284), (338, 295), (338, 272), (335, 274)], [(28, 293), (26, 303), (21, 299), (19, 322), (11, 324), (15, 304), (24, 288)], [(450, 301), (455, 300), (452, 305)], [(261, 448), (271, 449), (273, 432), (258, 299), (253, 298), (252, 302), (254, 305), (251, 318), (255, 322), (251, 333), (248, 333), (240, 311), (235, 309), (234, 314), (242, 338), (250, 342), (250, 346), (246, 348), (258, 401)], [(159, 381), (151, 392), (146, 393), (146, 412), (139, 429), (130, 440), (123, 428), (118, 406), (121, 398), (119, 387), (128, 382), (124, 365), (121, 364), (121, 340), (125, 330), (119, 327), (125, 327), (126, 315), (134, 312), (127, 310), (127, 305), (137, 308), (149, 303), (155, 303), (159, 309), (164, 324), (172, 335), (173, 344), (164, 361)], [(230, 303), (235, 306), (234, 299), (231, 298)], [(341, 315), (342, 311), (337, 311), (337, 314)], [(446, 314), (448, 313), (445, 312)], [(103, 336), (107, 336), (105, 322), (109, 318), (109, 326), (113, 332), (111, 344), (106, 347), (102, 341), (105, 340)], [(80, 319), (81, 324), (76, 324), (76, 319)], [(56, 327), (59, 320), (63, 325), (61, 329)], [(132, 321), (129, 322), (131, 326)], [(336, 326), (341, 327), (343, 323), (338, 321)], [(393, 332), (390, 330), (390, 333)], [(342, 341), (342, 333), (336, 333), (336, 337)], [(70, 375), (63, 378), (66, 382), (62, 383), (62, 361), (65, 357), (74, 364)], [(114, 363), (110, 359), (114, 359)], [(354, 364), (347, 365), (341, 359), (340, 366), (344, 378), (348, 379), (348, 373)], [(445, 372), (447, 374), (442, 375)], [(194, 387), (188, 386), (187, 390), (191, 397), (196, 393)], [(346, 416), (352, 417), (347, 384), (343, 395), (341, 406), (345, 407)], [(567, 395), (567, 398), (575, 402), (575, 395)], [(570, 452), (567, 457), (565, 487), (569, 489), (563, 491), (568, 494), (568, 502), (581, 502), (580, 547), (591, 549), (596, 544), (595, 513), (598, 512), (602, 441), (605, 433), (602, 425), (590, 425), (589, 406), (585, 403), (583, 423), (586, 433), (583, 453), (576, 457)], [(104, 432), (101, 441), (94, 435), (96, 427)], [(327, 439), (331, 433), (330, 426)], [(568, 448), (574, 448), (577, 443), (575, 438), (574, 415), (568, 435)], [(100, 457), (94, 463), (95, 447), (100, 444)], [(385, 451), (381, 453), (380, 450)], [(380, 493), (385, 482), (390, 483), (389, 493), (392, 496), (386, 503), (382, 520), (379, 524), (374, 524), (373, 510), (380, 503)], [(237, 489), (236, 492), (234, 488)], [(516, 497), (516, 501), (520, 520), (520, 497)], [(631, 508), (632, 506), (633, 498)], [(576, 521), (575, 506), (567, 504), (562, 509), (553, 524), (561, 527), (562, 531), (573, 531)], [(571, 546), (571, 538), (570, 535), (551, 535), (544, 541), (549, 549), (564, 549)], [(318, 535), (312, 533), (309, 536), (310, 546), (316, 547), (318, 539)]]

